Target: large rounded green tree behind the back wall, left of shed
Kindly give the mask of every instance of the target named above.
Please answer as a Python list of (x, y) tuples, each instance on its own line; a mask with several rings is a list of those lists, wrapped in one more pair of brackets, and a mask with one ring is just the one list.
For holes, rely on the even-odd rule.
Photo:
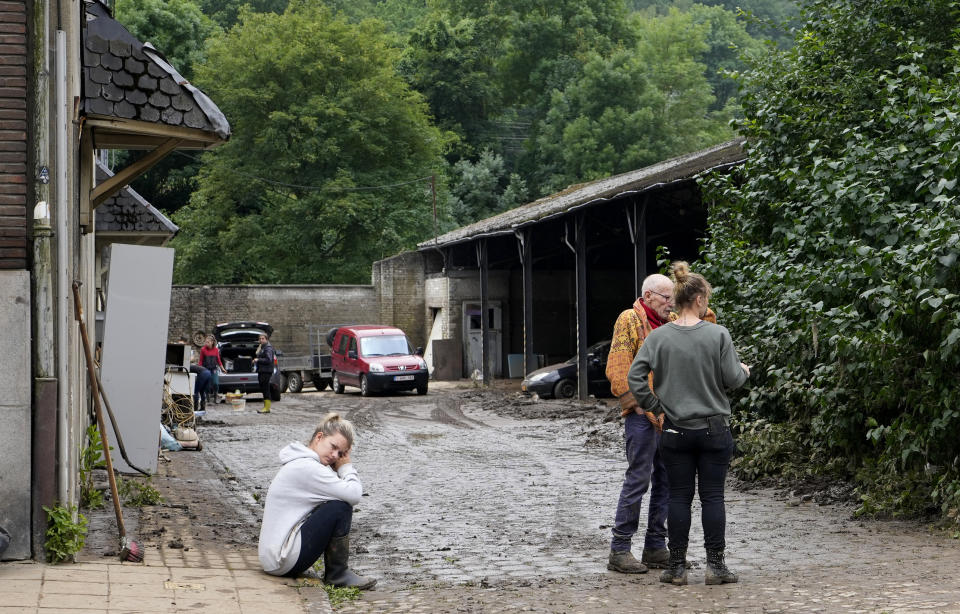
[(449, 137), (397, 61), (378, 22), (311, 2), (242, 13), (211, 41), (198, 82), (233, 136), (174, 218), (178, 282), (359, 282), (430, 235), (429, 182), (415, 180), (442, 168)]

